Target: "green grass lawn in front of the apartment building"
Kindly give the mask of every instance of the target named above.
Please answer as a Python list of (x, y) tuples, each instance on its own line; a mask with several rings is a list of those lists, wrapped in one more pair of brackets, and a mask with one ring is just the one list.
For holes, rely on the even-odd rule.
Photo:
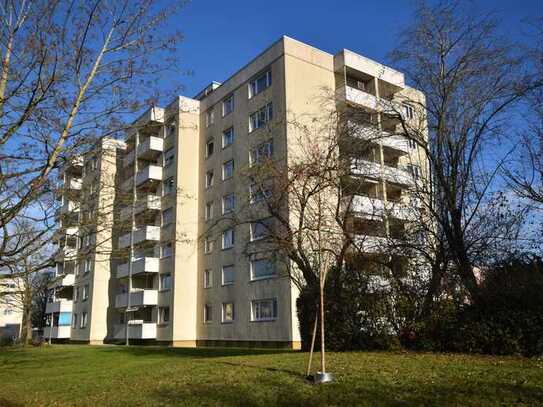
[(312, 385), (307, 354), (53, 345), (0, 348), (0, 406), (543, 404), (543, 360), (330, 353), (336, 382)]

